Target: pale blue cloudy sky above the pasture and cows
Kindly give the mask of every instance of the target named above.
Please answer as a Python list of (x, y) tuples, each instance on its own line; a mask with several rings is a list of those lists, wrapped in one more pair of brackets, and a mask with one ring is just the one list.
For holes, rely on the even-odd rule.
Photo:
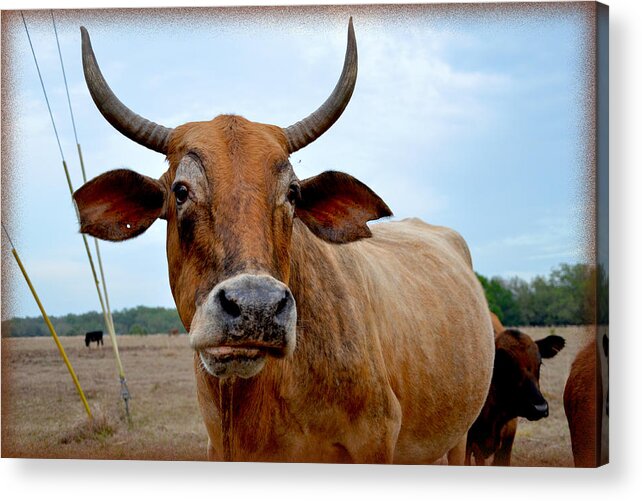
[[(475, 270), (486, 276), (530, 279), (560, 263), (581, 262), (588, 147), (583, 14), (569, 8), (412, 12), (55, 11), (88, 177), (127, 167), (158, 178), (166, 163), (121, 136), (95, 108), (82, 75), (81, 24), (111, 88), (146, 118), (174, 127), (236, 113), (285, 127), (333, 89), (353, 15), (359, 50), (354, 95), (325, 135), (292, 155), (298, 177), (341, 170), (370, 186), (395, 219), (416, 216), (456, 229)], [(27, 12), (25, 19), (79, 188), (51, 16)], [(11, 190), (12, 203), (3, 221), (50, 315), (98, 310), (21, 18), (14, 16), (6, 30), (3, 141), (11, 155), (3, 169), (10, 169), (12, 181), (2, 190), (3, 196)], [(165, 231), (165, 222), (157, 221), (133, 240), (100, 243), (113, 310), (174, 305)], [(2, 242), (6, 253), (4, 235)], [(3, 260), (3, 277), (15, 283), (3, 315), (37, 315), (16, 270)]]

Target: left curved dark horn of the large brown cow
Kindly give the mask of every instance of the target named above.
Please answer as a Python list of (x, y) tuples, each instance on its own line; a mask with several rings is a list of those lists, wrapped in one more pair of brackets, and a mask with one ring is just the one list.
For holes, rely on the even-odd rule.
[(96, 56), (91, 48), (89, 33), (84, 26), (80, 27), (80, 32), (82, 34), (82, 66), (85, 80), (98, 110), (114, 128), (132, 141), (159, 153), (167, 153), (167, 143), (173, 129), (168, 129), (137, 115), (119, 101), (100, 72)]

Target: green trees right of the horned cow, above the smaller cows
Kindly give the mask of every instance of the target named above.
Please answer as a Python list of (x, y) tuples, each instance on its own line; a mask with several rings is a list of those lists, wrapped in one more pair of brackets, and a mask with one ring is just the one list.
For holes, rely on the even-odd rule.
[(477, 274), (488, 306), (507, 326), (608, 323), (608, 276), (602, 267), (560, 264), (530, 281)]

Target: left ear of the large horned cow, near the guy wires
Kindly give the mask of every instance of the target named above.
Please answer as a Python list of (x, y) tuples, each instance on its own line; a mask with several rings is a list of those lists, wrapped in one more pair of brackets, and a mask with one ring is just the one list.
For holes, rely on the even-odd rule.
[(106, 172), (74, 193), (80, 231), (103, 240), (127, 240), (164, 217), (166, 192), (150, 177), (127, 169)]

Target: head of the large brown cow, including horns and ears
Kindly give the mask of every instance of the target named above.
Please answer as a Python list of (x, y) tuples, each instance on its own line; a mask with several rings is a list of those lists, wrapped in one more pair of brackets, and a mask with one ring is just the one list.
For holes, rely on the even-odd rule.
[[(88, 47), (85, 57), (83, 45), (86, 75), (97, 72)], [(356, 64), (356, 46), (352, 50)], [(349, 43), (346, 61), (350, 53)], [(356, 78), (356, 67), (346, 65), (344, 74), (353, 71)], [(90, 90), (98, 86), (92, 96), (99, 107), (115, 99), (102, 97), (104, 82), (87, 79)], [(351, 176), (325, 172), (299, 180), (288, 161), (343, 111), (352, 93), (335, 95), (345, 87), (343, 79), (311, 120), (286, 129), (231, 115), (175, 129), (150, 122), (132, 127), (129, 122), (140, 117), (130, 112), (114, 123), (115, 112), (101, 109), (121, 132), (125, 128), (132, 139), (165, 153), (169, 169), (159, 180), (121, 169), (87, 183), (74, 194), (81, 231), (123, 240), (157, 218), (167, 220), (172, 293), (191, 346), (215, 376), (251, 377), (268, 356), (294, 350), (297, 311), (289, 280), (295, 218), (316, 237), (346, 243), (370, 236), (367, 221), (391, 214)], [(337, 99), (340, 109), (329, 109)]]

